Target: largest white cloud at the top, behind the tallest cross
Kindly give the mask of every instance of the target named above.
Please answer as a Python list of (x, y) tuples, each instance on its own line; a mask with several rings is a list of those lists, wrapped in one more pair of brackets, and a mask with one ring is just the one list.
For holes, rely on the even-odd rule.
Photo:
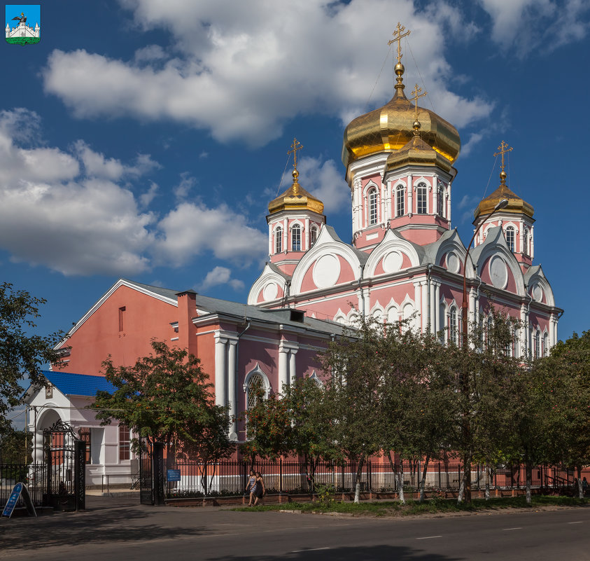
[[(447, 90), (444, 37), (454, 29), (463, 36), (478, 31), (450, 3), (442, 4), (441, 17), (419, 11), (411, 0), (250, 0), (232, 10), (216, 0), (120, 1), (139, 29), (169, 32), (174, 48), (167, 52), (175, 54), (166, 59), (153, 45), (132, 60), (54, 50), (43, 70), (45, 91), (79, 118), (176, 120), (210, 130), (218, 141), (240, 137), (252, 146), (279, 137), (297, 115), (349, 120), (366, 107), (368, 85), (379, 74), (397, 21), (412, 29), (412, 54), (437, 106), (449, 110), (445, 118), (462, 126), (492, 109), (485, 99)], [(410, 60), (404, 59), (407, 83), (418, 78)], [(385, 76), (375, 104), (393, 95), (393, 79)]]

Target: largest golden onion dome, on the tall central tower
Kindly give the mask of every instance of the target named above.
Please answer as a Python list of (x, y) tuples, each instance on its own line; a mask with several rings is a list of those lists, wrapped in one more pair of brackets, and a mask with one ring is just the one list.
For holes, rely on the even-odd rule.
[[(353, 119), (344, 130), (342, 162), (347, 169), (358, 158), (399, 150), (412, 140), (412, 123), (416, 119), (414, 106), (404, 93), (403, 73), (403, 64), (396, 64), (398, 83), (395, 84), (395, 95), (388, 104)], [(418, 108), (418, 119), (422, 123), (423, 141), (451, 163), (454, 162), (461, 150), (461, 139), (456, 128), (434, 111), (423, 107)]]

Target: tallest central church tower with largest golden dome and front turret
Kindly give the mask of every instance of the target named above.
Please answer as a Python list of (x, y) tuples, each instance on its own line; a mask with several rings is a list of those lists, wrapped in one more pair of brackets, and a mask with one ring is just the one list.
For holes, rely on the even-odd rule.
[(421, 88), (405, 95), (398, 24), (395, 95), (385, 106), (346, 127), (342, 161), (351, 188), (353, 244), (370, 251), (393, 228), (419, 245), (437, 241), (451, 227), (453, 162), (461, 149), (456, 128), (418, 106)]

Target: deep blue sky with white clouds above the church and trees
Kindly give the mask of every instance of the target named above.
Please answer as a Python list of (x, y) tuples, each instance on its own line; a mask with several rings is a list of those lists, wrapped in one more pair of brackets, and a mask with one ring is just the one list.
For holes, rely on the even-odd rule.
[(0, 47), (0, 267), (48, 300), (42, 333), (120, 277), (244, 302), (293, 137), (349, 241), (342, 132), (393, 95), (398, 21), (407, 91), (461, 134), (453, 226), (468, 242), (507, 141), (560, 338), (590, 327), (587, 2), (52, 0), (41, 16), (38, 45)]

